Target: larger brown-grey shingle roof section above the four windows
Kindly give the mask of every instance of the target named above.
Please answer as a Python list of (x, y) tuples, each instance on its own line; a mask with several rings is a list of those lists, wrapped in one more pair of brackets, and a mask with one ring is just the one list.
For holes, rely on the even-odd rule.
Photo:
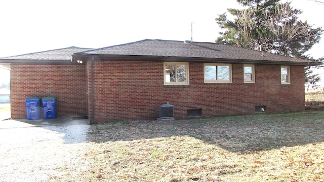
[(231, 45), (210, 42), (192, 42), (176, 40), (152, 40), (145, 39), (136, 42), (113, 45), (111, 47), (89, 50), (78, 55), (93, 56), (155, 56), (155, 57), (181, 57), (181, 58), (198, 58), (210, 60), (242, 61), (266, 64), (298, 64), (298, 65), (319, 65), (318, 62), (281, 56), (271, 53), (263, 53), (256, 50), (238, 48)]

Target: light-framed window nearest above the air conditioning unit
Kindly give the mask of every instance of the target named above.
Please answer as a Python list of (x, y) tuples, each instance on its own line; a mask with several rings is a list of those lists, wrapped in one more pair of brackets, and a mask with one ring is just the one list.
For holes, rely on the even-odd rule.
[(164, 63), (165, 85), (188, 85), (189, 63), (165, 62)]

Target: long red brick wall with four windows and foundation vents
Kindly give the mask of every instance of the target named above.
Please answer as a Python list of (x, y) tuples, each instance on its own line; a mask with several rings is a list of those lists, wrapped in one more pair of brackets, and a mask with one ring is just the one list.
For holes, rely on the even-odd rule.
[(278, 65), (255, 65), (255, 83), (244, 83), (242, 64), (232, 64), (232, 83), (204, 83), (203, 69), (203, 63), (190, 63), (190, 85), (165, 86), (163, 62), (95, 61), (95, 122), (156, 119), (158, 106), (166, 102), (174, 105), (175, 118), (187, 117), (188, 109), (213, 116), (254, 113), (258, 105), (267, 112), (305, 108), (303, 66), (291, 66), (290, 85), (281, 85)]

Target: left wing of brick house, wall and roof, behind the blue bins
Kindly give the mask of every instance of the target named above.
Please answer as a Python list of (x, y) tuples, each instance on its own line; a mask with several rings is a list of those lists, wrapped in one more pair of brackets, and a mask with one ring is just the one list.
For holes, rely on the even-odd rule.
[(27, 118), (30, 97), (56, 98), (57, 118), (88, 116), (86, 67), (71, 62), (73, 53), (87, 50), (69, 47), (0, 58), (2, 67), (11, 70), (11, 118)]

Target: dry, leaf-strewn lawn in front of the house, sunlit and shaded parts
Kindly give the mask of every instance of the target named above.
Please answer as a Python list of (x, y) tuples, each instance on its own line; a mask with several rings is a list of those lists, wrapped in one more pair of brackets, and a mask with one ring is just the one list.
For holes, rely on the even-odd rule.
[[(76, 181), (324, 181), (324, 112), (92, 125)], [(71, 180), (61, 176), (55, 180)]]

